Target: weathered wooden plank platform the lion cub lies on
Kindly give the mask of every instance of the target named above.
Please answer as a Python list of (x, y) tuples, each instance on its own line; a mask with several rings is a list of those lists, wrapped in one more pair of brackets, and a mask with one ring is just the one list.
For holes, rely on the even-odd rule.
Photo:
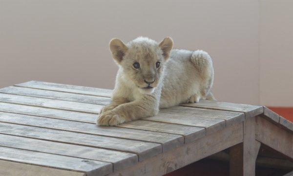
[(161, 176), (230, 148), (253, 176), (260, 143), (293, 159), (293, 123), (263, 106), (202, 100), (117, 127), (111, 90), (29, 81), (0, 89), (1, 176)]

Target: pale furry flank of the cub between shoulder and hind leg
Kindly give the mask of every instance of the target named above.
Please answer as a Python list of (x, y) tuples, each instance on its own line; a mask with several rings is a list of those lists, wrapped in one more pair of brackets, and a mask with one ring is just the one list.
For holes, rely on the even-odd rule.
[(198, 71), (190, 61), (193, 51), (171, 50), (163, 80), (160, 108), (186, 102), (199, 90)]

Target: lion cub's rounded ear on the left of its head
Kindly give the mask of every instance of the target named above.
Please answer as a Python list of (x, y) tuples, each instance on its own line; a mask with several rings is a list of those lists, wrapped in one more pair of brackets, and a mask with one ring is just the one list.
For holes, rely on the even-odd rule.
[(121, 62), (126, 51), (128, 50), (127, 46), (120, 39), (111, 39), (109, 48), (113, 59), (115, 59), (118, 63)]

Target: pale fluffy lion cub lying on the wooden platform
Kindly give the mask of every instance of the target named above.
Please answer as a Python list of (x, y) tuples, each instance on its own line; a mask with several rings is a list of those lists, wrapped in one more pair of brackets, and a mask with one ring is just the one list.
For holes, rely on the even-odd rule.
[(119, 70), (112, 101), (101, 110), (98, 125), (118, 125), (155, 116), (159, 108), (214, 99), (207, 52), (172, 50), (169, 37), (160, 43), (145, 37), (127, 44), (112, 39), (109, 47)]

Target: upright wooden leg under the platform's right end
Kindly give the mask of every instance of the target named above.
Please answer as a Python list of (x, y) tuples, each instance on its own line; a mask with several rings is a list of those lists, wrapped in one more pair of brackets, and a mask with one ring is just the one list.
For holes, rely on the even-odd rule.
[(260, 142), (255, 140), (255, 117), (243, 122), (243, 143), (230, 148), (230, 176), (255, 176)]

